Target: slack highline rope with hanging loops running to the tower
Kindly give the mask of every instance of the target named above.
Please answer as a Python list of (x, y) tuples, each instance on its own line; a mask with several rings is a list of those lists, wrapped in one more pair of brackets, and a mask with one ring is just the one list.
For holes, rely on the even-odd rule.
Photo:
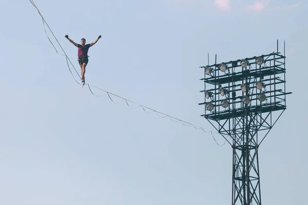
[[(46, 35), (47, 35), (47, 32), (46, 32), (45, 24), (47, 25), (48, 29), (49, 29), (50, 32), (52, 33), (52, 35), (53, 35), (53, 37), (55, 38), (56, 42), (57, 42), (57, 43), (59, 44), (59, 46), (61, 47), (61, 49), (62, 49), (62, 51), (64, 52), (64, 54), (60, 54), (60, 53), (56, 50), (55, 46), (52, 44), (50, 38), (49, 38), (48, 35), (47, 35), (47, 37), (48, 37), (48, 39), (49, 39), (49, 42), (51, 43), (51, 45), (53, 46), (53, 48), (55, 49), (55, 51), (56, 51), (57, 54), (65, 55), (65, 56), (66, 56), (67, 66), (68, 66), (68, 69), (69, 69), (71, 75), (73, 76), (73, 78), (74, 78), (74, 80), (76, 81), (76, 83), (82, 85), (81, 83), (79, 83), (79, 82), (75, 79), (75, 77), (74, 77), (74, 75), (73, 75), (73, 73), (72, 73), (72, 71), (71, 71), (71, 69), (70, 69), (70, 67), (69, 67), (68, 61), (70, 62), (70, 64), (71, 64), (72, 67), (74, 68), (75, 72), (76, 72), (76, 73), (78, 74), (78, 76), (80, 77), (80, 79), (81, 79), (81, 76), (79, 75), (78, 71), (76, 71), (74, 65), (71, 63), (69, 57), (68, 57), (67, 54), (65, 53), (65, 51), (64, 51), (64, 49), (62, 48), (61, 44), (59, 43), (59, 41), (56, 39), (55, 35), (54, 35), (53, 32), (51, 31), (50, 27), (48, 26), (48, 24), (47, 24), (45, 18), (44, 18), (43, 15), (41, 14), (40, 10), (38, 10), (38, 8), (36, 7), (36, 5), (35, 5), (35, 3), (33, 2), (33, 0), (29, 0), (29, 1), (30, 1), (31, 4), (34, 6), (34, 8), (36, 8), (36, 10), (38, 11), (38, 14), (41, 15), (42, 20), (43, 20), (43, 26), (44, 26), (44, 30), (45, 30)], [(187, 126), (187, 127), (192, 126), (192, 127), (194, 127), (195, 129), (197, 129), (197, 130), (200, 130), (200, 129), (201, 129), (201, 130), (202, 130), (203, 132), (205, 132), (205, 133), (211, 133), (211, 135), (212, 135), (213, 139), (215, 140), (216, 144), (217, 144), (218, 146), (220, 146), (220, 147), (224, 146), (225, 143), (226, 143), (226, 141), (230, 144), (230, 142), (229, 142), (221, 133), (214, 132), (214, 133), (220, 134), (220, 135), (225, 139), (225, 142), (224, 142), (223, 145), (219, 145), (219, 144), (218, 144), (217, 140), (216, 140), (215, 137), (214, 137), (213, 131), (211, 131), (211, 130), (204, 129), (204, 128), (200, 127), (200, 126), (196, 126), (196, 125), (194, 125), (194, 124), (191, 124), (190, 122), (187, 122), (187, 121), (178, 119), (178, 118), (176, 118), (176, 117), (172, 117), (172, 116), (170, 116), (170, 115), (164, 114), (164, 113), (162, 113), (162, 112), (159, 112), (159, 111), (157, 111), (157, 110), (148, 108), (148, 107), (143, 106), (143, 105), (140, 105), (140, 104), (138, 104), (138, 103), (134, 103), (134, 102), (131, 101), (131, 100), (128, 100), (128, 99), (126, 99), (126, 98), (124, 98), (124, 97), (121, 97), (121, 96), (119, 96), (119, 95), (115, 95), (115, 94), (110, 93), (110, 92), (108, 92), (108, 91), (106, 91), (106, 90), (103, 90), (103, 89), (101, 89), (101, 88), (98, 88), (98, 87), (95, 87), (95, 86), (91, 86), (91, 85), (89, 85), (89, 84), (85, 84), (85, 85), (88, 86), (90, 92), (91, 92), (92, 95), (94, 95), (94, 96), (100, 97), (100, 95), (95, 95), (95, 94), (93, 93), (93, 91), (91, 90), (90, 87), (93, 87), (93, 88), (96, 88), (96, 89), (99, 89), (99, 90), (101, 90), (101, 91), (106, 92), (107, 95), (108, 95), (108, 97), (110, 98), (110, 100), (111, 100), (113, 103), (115, 103), (115, 102), (112, 100), (112, 98), (110, 97), (110, 95), (113, 95), (113, 96), (116, 96), (116, 97), (119, 97), (119, 98), (125, 100), (126, 104), (127, 104), (128, 107), (130, 107), (130, 108), (133, 108), (133, 107), (131, 107), (131, 106), (128, 104), (128, 102), (138, 105), (137, 108), (141, 107), (145, 112), (146, 112), (145, 109), (151, 110), (152, 112), (155, 112), (155, 113), (156, 113), (159, 117), (161, 117), (161, 118), (168, 117), (168, 118), (169, 118), (171, 121), (173, 121), (173, 122), (179, 122), (179, 121), (180, 121), (184, 126)], [(117, 104), (117, 103), (115, 103), (115, 104)], [(162, 115), (164, 115), (164, 116), (160, 116), (159, 114), (162, 114)], [(172, 120), (172, 119), (175, 119), (175, 120), (177, 120), (177, 121), (174, 121), (174, 120)], [(186, 124), (186, 125), (185, 125), (185, 124)], [(198, 127), (199, 127), (199, 128), (198, 128)], [(231, 145), (231, 144), (230, 144), (230, 145)]]

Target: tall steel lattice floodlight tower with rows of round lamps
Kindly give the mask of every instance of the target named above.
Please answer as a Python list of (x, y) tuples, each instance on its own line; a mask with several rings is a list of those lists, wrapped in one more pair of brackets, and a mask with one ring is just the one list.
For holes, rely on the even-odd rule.
[[(285, 53), (285, 44), (284, 44)], [(232, 205), (260, 205), (258, 148), (286, 109), (278, 51), (204, 68), (205, 117), (233, 148)], [(212, 123), (213, 122), (213, 123)]]

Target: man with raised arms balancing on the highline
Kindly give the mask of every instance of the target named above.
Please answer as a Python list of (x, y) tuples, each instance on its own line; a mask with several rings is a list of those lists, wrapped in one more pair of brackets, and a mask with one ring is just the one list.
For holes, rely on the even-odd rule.
[(81, 81), (85, 84), (85, 72), (86, 72), (86, 66), (89, 62), (88, 59), (88, 50), (91, 46), (93, 46), (94, 44), (96, 44), (98, 42), (98, 40), (102, 37), (101, 35), (94, 40), (93, 43), (91, 44), (86, 44), (86, 39), (82, 38), (81, 39), (81, 45), (80, 44), (76, 44), (75, 42), (73, 42), (72, 39), (70, 39), (68, 37), (68, 35), (65, 35), (65, 37), (70, 41), (70, 43), (72, 43), (73, 45), (75, 45), (76, 47), (78, 47), (78, 63), (80, 65), (81, 68)]

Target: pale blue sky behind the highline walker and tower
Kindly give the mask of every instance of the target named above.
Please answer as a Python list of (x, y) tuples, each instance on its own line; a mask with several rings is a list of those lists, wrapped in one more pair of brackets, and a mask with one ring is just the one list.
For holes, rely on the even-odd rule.
[[(263, 204), (305, 204), (308, 4), (272, 0), (245, 10), (253, 3), (222, 10), (214, 0), (35, 1), (78, 72), (64, 35), (76, 43), (102, 35), (89, 50), (86, 83), (210, 130), (198, 105), (207, 52), (210, 63), (215, 53), (229, 61), (286, 40), (293, 94), (259, 149), (261, 195)], [(230, 146), (98, 90), (104, 96), (94, 97), (75, 83), (30, 1), (3, 0), (2, 8), (0, 204), (230, 203)]]

